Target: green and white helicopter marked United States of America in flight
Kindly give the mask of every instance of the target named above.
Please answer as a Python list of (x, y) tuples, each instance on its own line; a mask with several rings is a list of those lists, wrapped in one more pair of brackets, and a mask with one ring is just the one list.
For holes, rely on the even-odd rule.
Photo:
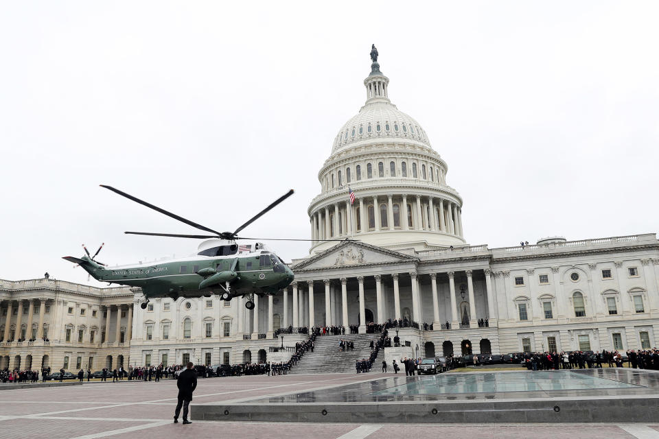
[[(179, 297), (201, 297), (218, 294), (221, 300), (231, 300), (238, 296), (248, 296), (245, 302), (247, 309), (254, 309), (253, 294), (257, 296), (273, 295), (292, 283), (294, 274), (277, 254), (257, 242), (254, 250), (251, 246), (239, 246), (237, 239), (263, 240), (263, 238), (239, 237), (244, 228), (256, 219), (273, 209), (277, 204), (293, 194), (290, 189), (275, 202), (251, 217), (233, 232), (218, 232), (200, 224), (185, 219), (174, 213), (154, 206), (146, 201), (135, 198), (128, 193), (111, 186), (100, 185), (129, 200), (135, 201), (168, 217), (177, 219), (199, 230), (212, 235), (182, 235), (175, 233), (124, 232), (128, 235), (147, 235), (178, 237), (191, 239), (207, 239), (198, 246), (193, 257), (170, 259), (152, 265), (123, 265), (108, 268), (106, 264), (96, 261), (103, 248), (101, 246), (92, 256), (83, 245), (85, 255), (80, 258), (63, 257), (67, 261), (80, 265), (97, 281), (108, 282), (109, 285), (128, 285), (140, 287), (146, 301), (141, 308), (146, 309), (150, 298), (169, 297), (176, 300)], [(274, 239), (277, 241), (310, 241), (310, 239)], [(327, 239), (338, 241), (339, 239)]]

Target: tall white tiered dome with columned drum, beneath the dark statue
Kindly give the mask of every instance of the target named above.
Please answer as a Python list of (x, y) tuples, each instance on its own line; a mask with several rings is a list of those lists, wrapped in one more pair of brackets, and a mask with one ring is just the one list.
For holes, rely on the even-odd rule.
[(417, 251), (464, 245), (462, 198), (446, 185), (448, 166), (419, 123), (389, 100), (377, 56), (364, 85), (364, 106), (340, 128), (318, 174), (310, 253), (336, 244), (327, 239)]

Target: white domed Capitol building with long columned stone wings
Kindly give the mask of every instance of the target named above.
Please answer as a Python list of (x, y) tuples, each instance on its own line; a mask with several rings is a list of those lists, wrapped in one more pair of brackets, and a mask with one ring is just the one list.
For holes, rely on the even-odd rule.
[(389, 319), (419, 327), (401, 329), (407, 351), (386, 348), (386, 358), (657, 346), (656, 234), (468, 244), (448, 164), (391, 102), (376, 60), (364, 106), (319, 170), (308, 208), (316, 241), (290, 263), (288, 289), (255, 297), (253, 310), (218, 296), (141, 309), (135, 288), (0, 280), (0, 368), (281, 361), (290, 352), (273, 348), (306, 336), (282, 340), (277, 329), (358, 325), (363, 333), (365, 322)]

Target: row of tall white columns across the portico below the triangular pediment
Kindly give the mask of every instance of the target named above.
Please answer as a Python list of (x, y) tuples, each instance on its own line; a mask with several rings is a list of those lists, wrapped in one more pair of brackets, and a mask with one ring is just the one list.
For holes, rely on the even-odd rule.
[[(485, 288), (487, 295), (488, 311), (489, 316), (492, 319), (494, 324), (494, 298), (492, 296), (492, 279), (490, 278), (490, 270), (484, 270), (485, 273)], [(432, 310), (433, 310), (433, 322), (436, 329), (439, 329), (441, 322), (439, 321), (439, 300), (437, 296), (437, 275), (439, 273), (430, 273), (430, 285), (432, 287)], [(469, 306), (470, 306), (470, 327), (476, 326), (476, 300), (474, 298), (474, 283), (472, 281), (473, 272), (472, 270), (466, 270), (465, 274), (467, 276), (467, 292), (469, 294)], [(417, 272), (409, 273), (412, 281), (412, 308), (413, 308), (413, 320), (420, 322), (421, 321), (421, 288), (419, 287), (419, 275)], [(450, 307), (451, 307), (451, 324), (452, 327), (458, 327), (459, 325), (459, 315), (458, 315), (458, 304), (456, 300), (456, 289), (455, 289), (455, 272), (446, 272), (448, 276), (448, 283), (450, 289)], [(393, 273), (390, 274), (393, 280), (393, 298), (394, 298), (394, 316), (396, 320), (402, 318), (401, 307), (400, 307), (400, 287), (399, 287), (399, 277), (400, 274)], [(375, 274), (373, 275), (375, 280), (375, 301), (378, 312), (378, 317), (375, 319), (376, 323), (384, 323), (387, 318), (384, 316), (384, 296), (382, 290), (382, 275)], [(364, 276), (357, 276), (358, 281), (358, 294), (359, 294), (359, 331), (366, 331), (365, 316), (365, 291), (364, 291)], [(339, 279), (341, 284), (341, 321), (343, 326), (348, 329), (348, 306), (347, 306), (347, 278)], [(306, 292), (304, 284), (306, 283)], [(330, 300), (330, 284), (332, 281), (330, 279), (323, 279), (323, 284), (325, 287), (325, 316), (329, 319), (329, 316), (332, 316), (332, 300)], [(315, 313), (316, 308), (314, 305), (314, 286), (316, 281), (306, 281), (306, 282), (293, 282), (292, 287), (292, 316), (288, 316), (288, 289), (284, 289), (284, 313), (283, 319), (281, 320), (281, 327), (301, 327), (305, 320), (305, 316), (308, 316), (309, 327), (315, 327)], [(242, 305), (244, 299), (240, 298), (238, 306)], [(254, 296), (254, 313), (253, 313), (253, 337), (255, 334), (259, 333), (259, 298)], [(305, 311), (308, 310), (308, 313)], [(268, 296), (268, 336), (273, 333), (273, 296)], [(292, 318), (291, 318), (292, 317)], [(328, 323), (329, 324), (329, 323)], [(242, 328), (242, 321), (240, 319), (240, 313), (238, 316), (238, 327)]]

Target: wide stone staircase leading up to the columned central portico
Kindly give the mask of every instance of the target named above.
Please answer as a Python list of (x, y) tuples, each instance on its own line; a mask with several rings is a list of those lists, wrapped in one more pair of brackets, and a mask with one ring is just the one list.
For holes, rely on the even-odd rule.
[[(343, 340), (354, 342), (353, 351), (340, 351), (338, 342)], [(290, 373), (327, 373), (327, 372), (351, 372), (355, 373), (355, 361), (368, 359), (371, 356), (371, 340), (377, 342), (380, 333), (373, 334), (346, 334), (346, 335), (319, 335), (314, 342), (314, 352), (308, 351), (290, 368)], [(380, 353), (382, 355), (382, 353)], [(378, 355), (378, 357), (380, 357)], [(380, 359), (380, 358), (378, 358)], [(382, 362), (382, 359), (380, 359)], [(373, 367), (377, 368), (378, 360)], [(373, 369), (371, 369), (373, 370)]]

